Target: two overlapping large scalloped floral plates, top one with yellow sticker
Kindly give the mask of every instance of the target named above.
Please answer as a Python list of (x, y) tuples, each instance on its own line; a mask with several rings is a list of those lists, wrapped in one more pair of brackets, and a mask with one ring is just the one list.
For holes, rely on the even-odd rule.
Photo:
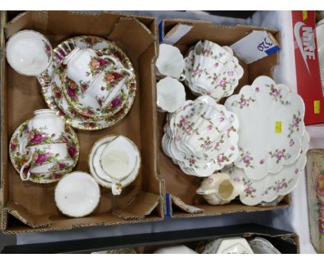
[(240, 119), (240, 155), (223, 172), (243, 183), (242, 203), (271, 203), (289, 194), (302, 175), (309, 145), (303, 99), (260, 76), (229, 97), (225, 107)]

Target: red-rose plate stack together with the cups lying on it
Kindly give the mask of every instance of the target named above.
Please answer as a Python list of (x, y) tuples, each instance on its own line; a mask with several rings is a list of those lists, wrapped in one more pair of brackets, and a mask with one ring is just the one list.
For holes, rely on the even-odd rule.
[(114, 43), (73, 37), (53, 50), (54, 60), (37, 76), (48, 106), (82, 130), (114, 125), (129, 112), (136, 94), (132, 63)]

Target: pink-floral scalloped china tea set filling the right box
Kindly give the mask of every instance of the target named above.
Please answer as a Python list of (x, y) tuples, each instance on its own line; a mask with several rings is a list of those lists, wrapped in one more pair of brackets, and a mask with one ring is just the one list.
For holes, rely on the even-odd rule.
[[(267, 76), (232, 95), (244, 71), (228, 46), (204, 40), (184, 59), (179, 54), (161, 44), (156, 61), (156, 74), (173, 79), (157, 83), (158, 110), (168, 111), (163, 152), (183, 173), (203, 178), (196, 193), (211, 205), (237, 196), (245, 205), (278, 203), (306, 164), (303, 99)], [(186, 101), (181, 81), (196, 99)]]

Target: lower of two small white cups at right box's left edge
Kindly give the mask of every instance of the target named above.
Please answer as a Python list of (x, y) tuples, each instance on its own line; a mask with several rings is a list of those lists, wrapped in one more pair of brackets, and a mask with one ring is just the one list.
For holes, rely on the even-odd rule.
[(174, 78), (165, 77), (156, 84), (157, 105), (161, 112), (174, 112), (186, 101), (183, 85)]

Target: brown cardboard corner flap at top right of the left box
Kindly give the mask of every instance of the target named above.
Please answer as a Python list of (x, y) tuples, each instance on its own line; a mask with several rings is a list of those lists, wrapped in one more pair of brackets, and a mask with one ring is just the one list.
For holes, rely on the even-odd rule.
[[(141, 36), (138, 32), (141, 32)], [(134, 17), (120, 17), (109, 39), (123, 43), (123, 49), (136, 58), (156, 40), (152, 32)]]

